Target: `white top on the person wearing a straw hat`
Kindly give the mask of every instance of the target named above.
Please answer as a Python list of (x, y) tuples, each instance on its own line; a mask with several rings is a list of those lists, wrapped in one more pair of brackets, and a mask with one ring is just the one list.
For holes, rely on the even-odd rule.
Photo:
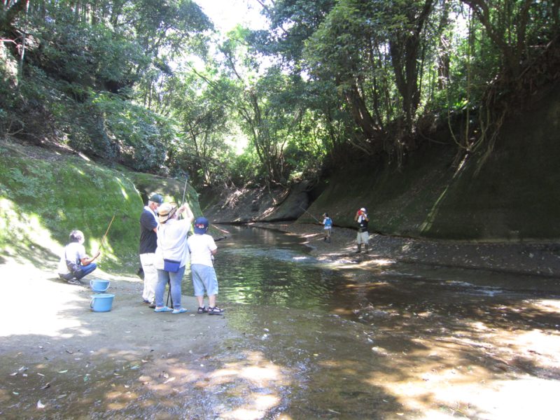
[(154, 266), (163, 269), (163, 259), (181, 261), (180, 267), (186, 265), (188, 258), (187, 235), (190, 230), (190, 218), (171, 219), (158, 225), (158, 248), (155, 248)]

